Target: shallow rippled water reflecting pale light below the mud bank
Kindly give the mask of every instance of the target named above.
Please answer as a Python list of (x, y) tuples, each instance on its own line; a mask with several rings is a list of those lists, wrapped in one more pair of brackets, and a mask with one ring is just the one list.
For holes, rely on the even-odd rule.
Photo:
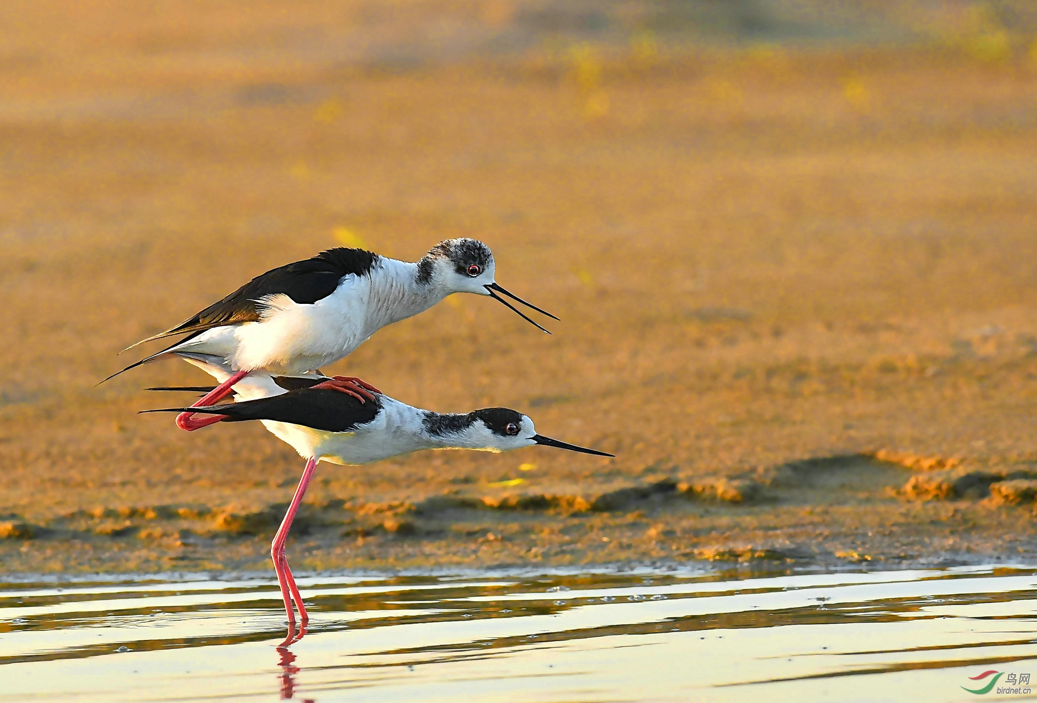
[(8, 583), (0, 701), (940, 701), (1037, 679), (1028, 568), (299, 583), (312, 619), (282, 647), (273, 580)]

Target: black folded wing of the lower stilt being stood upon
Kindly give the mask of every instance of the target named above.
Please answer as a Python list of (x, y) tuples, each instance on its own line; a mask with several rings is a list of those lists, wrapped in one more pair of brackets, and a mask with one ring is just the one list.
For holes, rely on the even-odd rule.
[(304, 388), (258, 400), (203, 407), (163, 407), (144, 413), (201, 413), (226, 415), (224, 422), (275, 420), (328, 432), (352, 432), (371, 422), (382, 410), (382, 401), (360, 402), (352, 395), (330, 388)]

